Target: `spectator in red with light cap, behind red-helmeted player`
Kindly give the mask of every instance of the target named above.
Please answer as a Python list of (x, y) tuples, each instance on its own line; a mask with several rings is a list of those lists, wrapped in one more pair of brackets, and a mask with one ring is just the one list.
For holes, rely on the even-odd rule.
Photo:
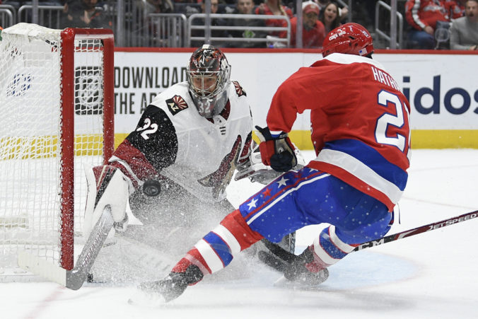
[[(302, 3), (302, 46), (319, 49), (325, 39), (325, 28), (319, 21), (319, 6), (313, 1)], [(297, 17), (291, 18), (291, 47), (296, 47)]]

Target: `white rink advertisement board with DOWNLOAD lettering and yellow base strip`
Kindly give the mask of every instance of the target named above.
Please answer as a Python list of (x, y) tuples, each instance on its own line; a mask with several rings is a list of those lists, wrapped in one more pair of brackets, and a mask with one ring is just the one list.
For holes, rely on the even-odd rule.
[[(264, 126), (276, 88), (302, 66), (321, 59), (320, 52), (296, 50), (225, 50), (231, 79), (247, 93), (252, 116)], [(186, 80), (192, 50), (115, 52), (115, 132), (118, 140), (132, 131), (153, 98)], [(378, 51), (382, 63), (409, 99), (414, 148), (478, 148), (478, 54)], [(346, 89), (346, 88), (344, 88)], [(317, 97), (320, 98), (320, 97)], [(309, 113), (299, 115), (291, 136), (310, 149)]]

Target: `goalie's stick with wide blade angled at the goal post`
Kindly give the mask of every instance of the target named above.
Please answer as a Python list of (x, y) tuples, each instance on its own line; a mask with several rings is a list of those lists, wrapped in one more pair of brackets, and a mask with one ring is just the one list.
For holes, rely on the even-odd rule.
[(88, 273), (98, 253), (100, 253), (100, 249), (103, 247), (113, 224), (110, 207), (106, 207), (93, 227), (88, 240), (86, 240), (83, 250), (81, 250), (81, 254), (76, 261), (76, 266), (71, 270), (66, 270), (41, 257), (30, 255), (25, 251), (18, 253), (18, 266), (33, 272), (33, 274), (45, 277), (52, 282), (57, 282), (66, 288), (78, 290), (87, 279)]

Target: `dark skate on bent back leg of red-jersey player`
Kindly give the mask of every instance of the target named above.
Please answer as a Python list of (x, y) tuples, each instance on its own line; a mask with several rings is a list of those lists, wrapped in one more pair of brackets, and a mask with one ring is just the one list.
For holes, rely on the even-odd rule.
[(257, 253), (259, 260), (284, 274), (291, 282), (305, 282), (310, 285), (321, 284), (329, 277), (327, 268), (318, 268), (314, 263), (314, 255), (306, 248), (301, 255), (289, 253), (269, 240), (262, 242), (269, 252)]

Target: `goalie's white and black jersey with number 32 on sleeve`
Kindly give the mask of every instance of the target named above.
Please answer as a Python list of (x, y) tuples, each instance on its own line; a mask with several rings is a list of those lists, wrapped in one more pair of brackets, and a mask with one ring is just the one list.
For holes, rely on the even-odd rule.
[(137, 187), (166, 178), (203, 202), (226, 198), (235, 167), (250, 153), (252, 116), (237, 81), (228, 86), (228, 102), (210, 119), (197, 112), (187, 83), (177, 83), (148, 105), (135, 131), (110, 161), (127, 168)]

